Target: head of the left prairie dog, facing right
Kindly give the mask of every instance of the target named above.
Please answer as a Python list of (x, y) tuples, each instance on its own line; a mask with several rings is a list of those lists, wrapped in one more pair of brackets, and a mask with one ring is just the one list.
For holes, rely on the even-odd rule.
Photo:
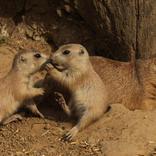
[(38, 51), (25, 50), (16, 54), (13, 61), (13, 69), (30, 75), (40, 70), (47, 59), (48, 56)]

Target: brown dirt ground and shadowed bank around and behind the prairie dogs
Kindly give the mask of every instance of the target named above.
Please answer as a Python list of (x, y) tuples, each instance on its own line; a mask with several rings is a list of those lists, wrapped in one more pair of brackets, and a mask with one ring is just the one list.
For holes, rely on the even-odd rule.
[[(14, 1), (0, 2), (0, 78), (19, 48), (51, 53), (74, 42), (83, 43), (91, 55), (119, 57), (108, 53), (112, 43), (108, 47), (97, 38), (68, 1), (34, 0), (24, 7), (17, 1), (21, 6), (15, 8)], [(22, 121), (0, 127), (0, 156), (156, 156), (156, 110), (129, 111), (114, 104), (73, 142), (65, 143), (60, 138), (73, 121), (54, 106), (45, 99), (39, 107), (45, 119), (26, 113)]]

